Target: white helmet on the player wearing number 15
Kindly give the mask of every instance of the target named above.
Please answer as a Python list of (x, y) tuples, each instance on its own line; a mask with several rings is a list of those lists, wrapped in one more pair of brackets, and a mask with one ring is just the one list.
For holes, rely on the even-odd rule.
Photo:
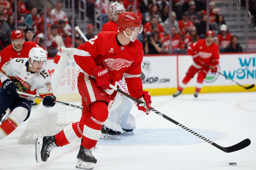
[(47, 55), (43, 48), (33, 47), (28, 53), (28, 59), (31, 59), (31, 61), (29, 61), (29, 66), (32, 69), (32, 64), (34, 61), (43, 61), (43, 65), (46, 65)]

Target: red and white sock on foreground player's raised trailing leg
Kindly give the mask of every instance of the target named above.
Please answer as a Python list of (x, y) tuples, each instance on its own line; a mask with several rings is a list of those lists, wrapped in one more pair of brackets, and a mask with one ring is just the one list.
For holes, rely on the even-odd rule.
[(62, 129), (60, 133), (55, 135), (56, 144), (59, 146), (64, 146), (73, 141), (79, 140), (82, 137), (82, 134), (82, 130), (79, 127), (79, 122), (71, 123)]

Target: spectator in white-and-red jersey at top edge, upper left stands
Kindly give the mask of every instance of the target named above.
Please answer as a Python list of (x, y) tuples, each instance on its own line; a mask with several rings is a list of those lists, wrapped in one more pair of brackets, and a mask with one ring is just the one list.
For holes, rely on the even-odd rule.
[(66, 23), (68, 23), (67, 14), (61, 10), (62, 8), (62, 2), (58, 1), (55, 4), (55, 8), (51, 11), (51, 17), (52, 21), (55, 25), (58, 25), (59, 20), (64, 20)]

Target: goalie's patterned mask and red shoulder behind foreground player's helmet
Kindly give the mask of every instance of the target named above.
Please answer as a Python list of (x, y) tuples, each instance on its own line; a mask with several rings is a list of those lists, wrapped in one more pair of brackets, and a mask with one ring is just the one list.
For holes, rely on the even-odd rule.
[(125, 11), (124, 5), (114, 2), (108, 8), (108, 21), (102, 26), (101, 31), (117, 31), (117, 18), (118, 16)]

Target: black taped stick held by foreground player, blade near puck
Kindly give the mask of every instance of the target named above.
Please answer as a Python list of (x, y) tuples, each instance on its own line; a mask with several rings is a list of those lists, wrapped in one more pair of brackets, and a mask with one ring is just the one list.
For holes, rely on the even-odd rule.
[[(117, 87), (115, 87), (115, 86), (113, 86), (113, 85), (111, 85), (111, 84), (109, 84), (109, 87), (112, 88), (112, 89), (114, 89), (114, 90), (116, 90), (117, 92), (120, 92), (121, 94), (125, 95), (126, 97), (128, 97), (128, 98), (130, 98), (130, 99), (136, 101), (136, 102), (139, 103), (139, 104), (140, 104), (140, 103), (143, 103), (142, 101), (137, 100), (136, 98), (132, 97), (131, 95), (125, 93), (124, 91), (118, 89)], [(187, 128), (186, 126), (180, 124), (179, 122), (176, 122), (175, 120), (173, 120), (173, 119), (171, 119), (170, 117), (164, 115), (163, 113), (157, 111), (156, 109), (154, 109), (154, 108), (151, 107), (150, 110), (153, 111), (153, 112), (155, 112), (157, 115), (162, 116), (163, 118), (167, 119), (168, 121), (170, 121), (170, 122), (176, 124), (177, 126), (181, 127), (182, 129), (187, 130), (189, 133), (192, 133), (192, 134), (195, 135), (196, 137), (199, 137), (200, 139), (204, 140), (205, 142), (207, 142), (207, 143), (209, 143), (209, 144), (215, 146), (216, 148), (220, 149), (221, 151), (224, 151), (224, 152), (227, 152), (227, 153), (229, 153), (229, 152), (235, 152), (235, 151), (238, 151), (238, 150), (240, 150), (240, 149), (243, 149), (243, 148), (245, 148), (245, 147), (247, 147), (247, 146), (249, 146), (249, 145), (251, 144), (250, 139), (244, 139), (243, 141), (241, 141), (241, 142), (239, 142), (238, 144), (235, 144), (235, 145), (233, 145), (233, 146), (222, 147), (222, 146), (220, 146), (220, 145), (218, 145), (218, 144), (215, 144), (214, 142), (210, 141), (209, 139), (203, 137), (202, 135), (199, 135), (199, 134), (196, 133), (195, 131), (193, 131), (193, 130)]]

